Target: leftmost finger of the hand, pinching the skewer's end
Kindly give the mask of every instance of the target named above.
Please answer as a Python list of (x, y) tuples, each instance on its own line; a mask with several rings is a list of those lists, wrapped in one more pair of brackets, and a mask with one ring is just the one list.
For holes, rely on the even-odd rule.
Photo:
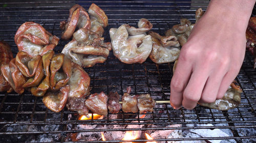
[(175, 109), (179, 109), (182, 105), (183, 90), (186, 87), (190, 77), (192, 66), (189, 62), (182, 59), (182, 55), (177, 63), (172, 81), (170, 82), (170, 105)]

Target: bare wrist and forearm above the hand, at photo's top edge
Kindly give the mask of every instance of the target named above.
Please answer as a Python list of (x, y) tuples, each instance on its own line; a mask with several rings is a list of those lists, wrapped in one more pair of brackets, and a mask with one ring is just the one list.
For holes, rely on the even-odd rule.
[(245, 31), (255, 0), (212, 0), (205, 16), (223, 21), (227, 24), (237, 24)]

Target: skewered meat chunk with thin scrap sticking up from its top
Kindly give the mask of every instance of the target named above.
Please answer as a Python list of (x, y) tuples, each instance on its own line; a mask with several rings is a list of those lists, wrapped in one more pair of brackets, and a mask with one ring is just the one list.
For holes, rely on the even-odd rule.
[(137, 98), (135, 96), (131, 96), (131, 87), (127, 88), (127, 92), (122, 96), (122, 110), (123, 112), (138, 112), (137, 106)]

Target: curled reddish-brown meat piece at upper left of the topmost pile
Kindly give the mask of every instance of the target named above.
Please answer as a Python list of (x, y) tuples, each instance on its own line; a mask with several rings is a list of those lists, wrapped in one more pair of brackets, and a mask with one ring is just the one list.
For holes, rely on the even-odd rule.
[(91, 20), (84, 8), (80, 5), (74, 5), (69, 10), (69, 19), (67, 21), (60, 22), (60, 28), (63, 30), (61, 39), (69, 40), (73, 33), (75, 32), (76, 27), (78, 28), (91, 28)]

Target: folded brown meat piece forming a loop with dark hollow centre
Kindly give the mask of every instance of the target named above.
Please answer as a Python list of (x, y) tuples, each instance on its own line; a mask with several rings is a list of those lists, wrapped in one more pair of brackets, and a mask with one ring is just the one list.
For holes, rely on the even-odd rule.
[(65, 86), (71, 76), (72, 62), (70, 58), (62, 53), (53, 55), (50, 65), (51, 90), (59, 90)]

